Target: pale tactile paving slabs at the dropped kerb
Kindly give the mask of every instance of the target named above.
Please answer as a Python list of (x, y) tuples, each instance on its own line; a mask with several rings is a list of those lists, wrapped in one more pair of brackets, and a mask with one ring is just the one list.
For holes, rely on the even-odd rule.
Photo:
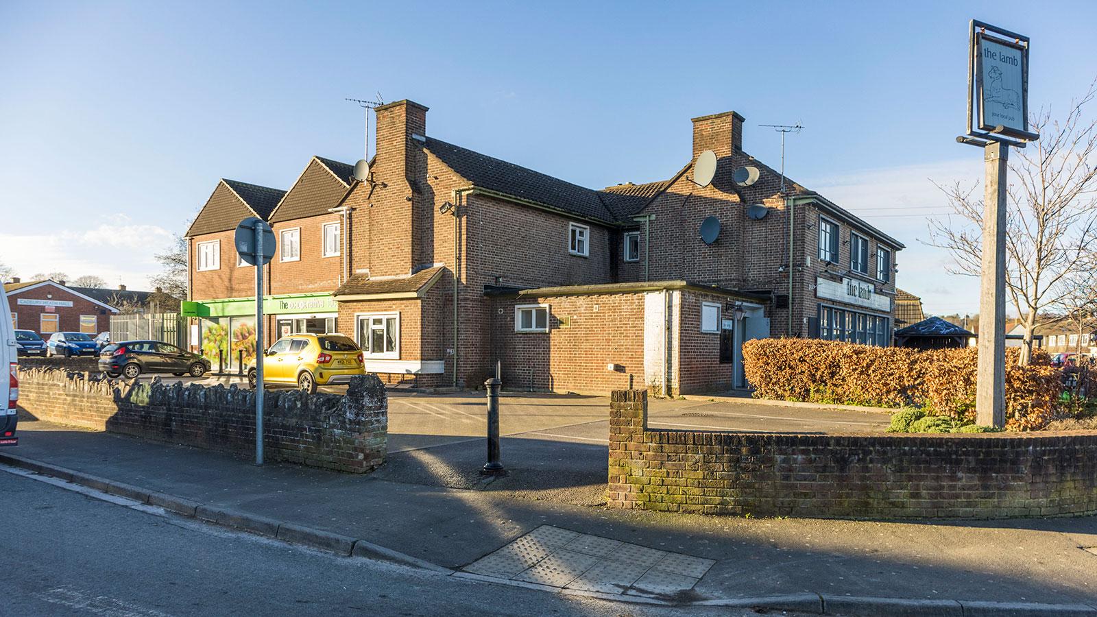
[(569, 590), (669, 595), (691, 588), (714, 563), (543, 525), (464, 570)]

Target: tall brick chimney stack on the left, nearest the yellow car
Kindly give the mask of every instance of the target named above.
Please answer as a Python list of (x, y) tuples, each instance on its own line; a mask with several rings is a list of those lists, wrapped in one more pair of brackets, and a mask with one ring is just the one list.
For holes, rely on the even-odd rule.
[(432, 224), (427, 203), (427, 108), (403, 100), (381, 105), (377, 159), (373, 171), (383, 188), (372, 198), (369, 227), (385, 229), (370, 243), (370, 276), (407, 276), (425, 254), (420, 236)]

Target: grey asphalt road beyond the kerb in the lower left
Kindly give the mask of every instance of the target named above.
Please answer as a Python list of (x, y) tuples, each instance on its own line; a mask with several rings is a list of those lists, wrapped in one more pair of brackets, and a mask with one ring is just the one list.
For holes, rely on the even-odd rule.
[(754, 614), (564, 596), (337, 557), (100, 501), (7, 469), (0, 468), (7, 531), (0, 613), (7, 615)]

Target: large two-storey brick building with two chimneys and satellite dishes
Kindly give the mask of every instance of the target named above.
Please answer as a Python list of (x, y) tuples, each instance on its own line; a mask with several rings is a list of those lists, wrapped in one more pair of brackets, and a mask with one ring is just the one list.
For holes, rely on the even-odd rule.
[(184, 311), (204, 351), (255, 349), (231, 229), (262, 216), (275, 336), (344, 333), (389, 381), (476, 385), (498, 362), (509, 386), (688, 393), (745, 386), (749, 338), (890, 344), (903, 245), (743, 152), (743, 124), (693, 119), (668, 179), (592, 190), (429, 136), (420, 104), (380, 106), (366, 181), (314, 157), (286, 192), (218, 183), (186, 234)]

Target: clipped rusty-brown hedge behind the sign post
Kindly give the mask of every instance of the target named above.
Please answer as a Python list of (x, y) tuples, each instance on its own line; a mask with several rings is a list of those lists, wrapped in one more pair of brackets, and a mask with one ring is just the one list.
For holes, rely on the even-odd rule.
[[(1025, 367), (1006, 350), (1006, 428), (1043, 428), (1060, 415), (1062, 371), (1045, 354)], [(764, 338), (743, 345), (747, 381), (758, 399), (913, 406), (968, 424), (975, 419), (977, 351), (916, 351), (833, 340)]]

